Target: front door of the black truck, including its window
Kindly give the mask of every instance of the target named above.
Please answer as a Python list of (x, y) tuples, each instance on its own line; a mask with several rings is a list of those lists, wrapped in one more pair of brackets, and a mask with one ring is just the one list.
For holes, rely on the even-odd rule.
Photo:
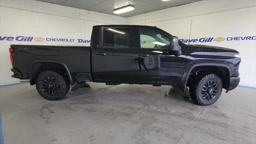
[(136, 30), (140, 35), (136, 49), (136, 80), (178, 83), (185, 66), (185, 50), (176, 57), (170, 51), (170, 36), (150, 28)]

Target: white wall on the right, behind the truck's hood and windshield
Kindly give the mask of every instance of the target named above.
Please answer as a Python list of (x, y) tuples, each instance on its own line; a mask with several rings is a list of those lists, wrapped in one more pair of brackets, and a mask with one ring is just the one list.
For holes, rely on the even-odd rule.
[(227, 40), (228, 37), (256, 36), (256, 0), (203, 0), (131, 16), (127, 23), (157, 26), (182, 39), (189, 39), (189, 36), (190, 39), (225, 38), (221, 42), (190, 44), (238, 50), (242, 57), (240, 85), (256, 87), (256, 40)]

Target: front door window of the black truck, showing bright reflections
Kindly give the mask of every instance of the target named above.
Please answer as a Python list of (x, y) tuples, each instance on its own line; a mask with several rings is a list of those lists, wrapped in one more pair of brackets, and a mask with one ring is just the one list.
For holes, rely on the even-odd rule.
[(170, 39), (151, 29), (140, 29), (140, 48), (169, 48)]

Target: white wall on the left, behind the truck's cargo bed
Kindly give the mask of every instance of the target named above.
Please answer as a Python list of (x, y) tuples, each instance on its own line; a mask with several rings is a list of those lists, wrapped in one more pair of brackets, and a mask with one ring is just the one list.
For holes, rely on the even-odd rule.
[(11, 78), (8, 48), (11, 44), (88, 46), (92, 26), (126, 24), (126, 18), (34, 0), (0, 0), (0, 36), (69, 38), (74, 42), (19, 42), (0, 40), (0, 85), (19, 82)]

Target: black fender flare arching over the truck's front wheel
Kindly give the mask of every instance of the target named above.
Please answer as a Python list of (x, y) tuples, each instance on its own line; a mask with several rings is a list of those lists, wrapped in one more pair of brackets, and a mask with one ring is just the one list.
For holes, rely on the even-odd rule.
[(186, 68), (185, 68), (184, 74), (183, 74), (182, 79), (180, 81), (181, 82), (180, 83), (180, 90), (185, 91), (185, 88), (186, 88), (186, 85), (187, 85), (187, 82), (188, 82), (189, 74), (197, 66), (221, 66), (221, 67), (225, 67), (225, 68), (228, 69), (229, 76), (230, 77), (232, 76), (232, 70), (231, 70), (230, 66), (228, 66), (226, 64), (218, 64), (218, 63), (193, 64), (192, 66), (189, 67), (189, 70), (186, 70)]

